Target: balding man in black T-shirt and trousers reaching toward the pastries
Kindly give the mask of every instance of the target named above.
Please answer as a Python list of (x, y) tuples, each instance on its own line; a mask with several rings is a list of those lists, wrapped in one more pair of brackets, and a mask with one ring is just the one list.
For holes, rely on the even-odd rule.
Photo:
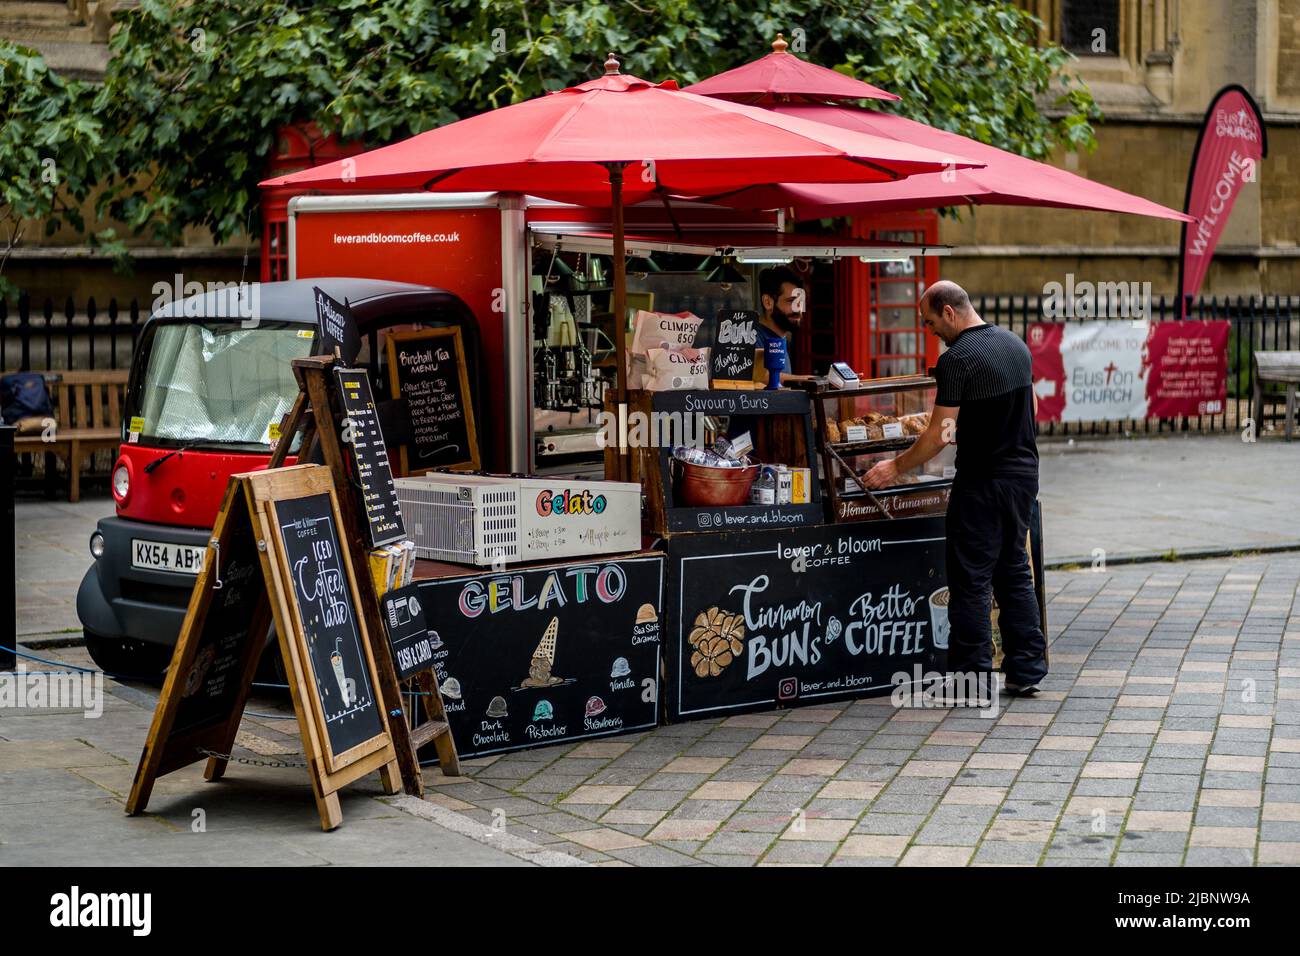
[(901, 455), (876, 464), (864, 481), (868, 488), (898, 484), (902, 472), (924, 464), (948, 442), (957, 444), (946, 519), (948, 670), (992, 671), (992, 591), (1006, 691), (1032, 696), (1048, 666), (1024, 550), (1039, 493), (1030, 350), (1015, 333), (980, 319), (956, 282), (930, 286), (919, 310), (926, 328), (948, 345), (939, 356), (930, 427)]

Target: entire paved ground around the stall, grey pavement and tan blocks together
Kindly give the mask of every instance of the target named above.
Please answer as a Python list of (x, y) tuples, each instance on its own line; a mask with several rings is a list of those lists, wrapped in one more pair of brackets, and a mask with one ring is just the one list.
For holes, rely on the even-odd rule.
[[(1045, 446), (1049, 554), (1300, 537), (1300, 445), (1232, 441)], [(18, 505), (20, 633), (58, 666), (88, 665), (56, 645), (108, 510)], [(195, 765), (126, 818), (156, 688), (109, 680), (98, 719), (0, 715), (0, 862), (1297, 864), (1297, 584), (1300, 553), (1052, 571), (1052, 675), (996, 715), (854, 701), (468, 761), (426, 801), (348, 787), (334, 834), (296, 766)], [(250, 710), (237, 754), (300, 761), (287, 701)]]

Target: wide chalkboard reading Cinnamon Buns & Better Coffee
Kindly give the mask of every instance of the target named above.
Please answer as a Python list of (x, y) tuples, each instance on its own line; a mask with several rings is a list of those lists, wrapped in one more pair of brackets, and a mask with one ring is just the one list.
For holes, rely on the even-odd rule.
[(948, 656), (944, 519), (668, 540), (670, 718), (890, 693)]

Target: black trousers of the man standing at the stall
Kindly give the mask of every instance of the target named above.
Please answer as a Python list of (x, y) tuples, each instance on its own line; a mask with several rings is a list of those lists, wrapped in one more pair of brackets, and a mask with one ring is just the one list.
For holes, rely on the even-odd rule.
[(1034, 594), (1024, 536), (1036, 479), (963, 481), (948, 503), (948, 670), (993, 670), (989, 593), (997, 598), (1002, 672), (1013, 684), (1036, 684), (1048, 672), (1046, 641)]

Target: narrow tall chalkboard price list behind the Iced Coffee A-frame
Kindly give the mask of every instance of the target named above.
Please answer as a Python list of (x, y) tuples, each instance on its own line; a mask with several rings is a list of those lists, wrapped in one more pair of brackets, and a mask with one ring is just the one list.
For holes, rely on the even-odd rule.
[(398, 489), (389, 466), (389, 446), (380, 431), (380, 418), (365, 369), (335, 368), (338, 394), (343, 403), (343, 445), (361, 484), (370, 548), (406, 537)]

